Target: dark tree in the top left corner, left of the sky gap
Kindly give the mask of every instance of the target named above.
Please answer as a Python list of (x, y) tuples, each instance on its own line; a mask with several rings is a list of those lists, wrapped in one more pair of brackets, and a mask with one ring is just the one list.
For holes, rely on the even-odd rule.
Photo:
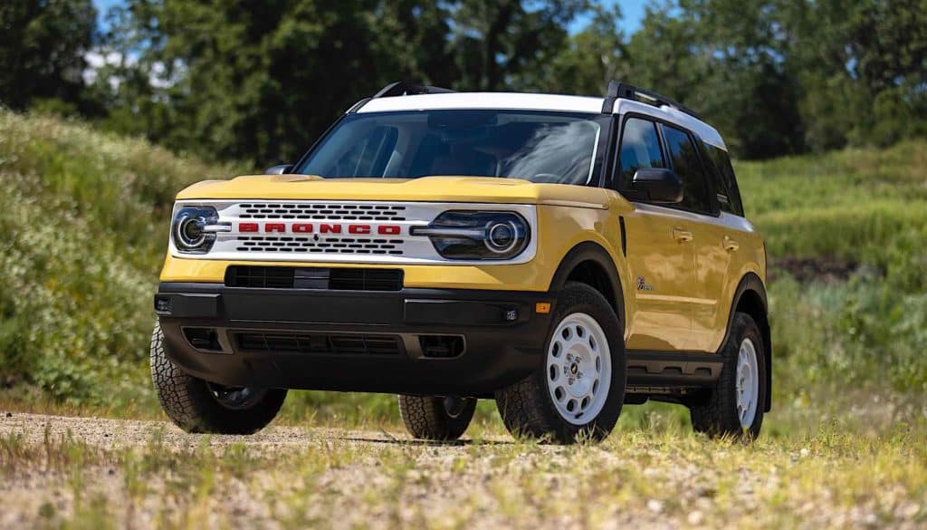
[(22, 110), (56, 98), (80, 107), (95, 19), (91, 0), (0, 3), (0, 102)]

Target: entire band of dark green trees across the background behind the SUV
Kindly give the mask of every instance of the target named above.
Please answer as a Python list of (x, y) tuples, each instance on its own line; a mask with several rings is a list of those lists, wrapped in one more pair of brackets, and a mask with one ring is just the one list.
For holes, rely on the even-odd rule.
[[(397, 80), (698, 110), (743, 158), (927, 135), (927, 0), (654, 0), (641, 28), (593, 0), (89, 0), (0, 6), (0, 99), (257, 164), (291, 161)], [(578, 20), (585, 23), (580, 25)], [(82, 83), (93, 46), (106, 64)], [(87, 77), (87, 76), (84, 76)]]

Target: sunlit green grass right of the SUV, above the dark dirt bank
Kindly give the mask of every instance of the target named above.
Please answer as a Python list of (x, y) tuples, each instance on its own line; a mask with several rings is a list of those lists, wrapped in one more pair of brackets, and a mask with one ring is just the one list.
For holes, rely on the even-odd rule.
[(744, 209), (773, 258), (823, 256), (887, 268), (927, 239), (924, 167), (921, 140), (741, 162), (736, 171)]

